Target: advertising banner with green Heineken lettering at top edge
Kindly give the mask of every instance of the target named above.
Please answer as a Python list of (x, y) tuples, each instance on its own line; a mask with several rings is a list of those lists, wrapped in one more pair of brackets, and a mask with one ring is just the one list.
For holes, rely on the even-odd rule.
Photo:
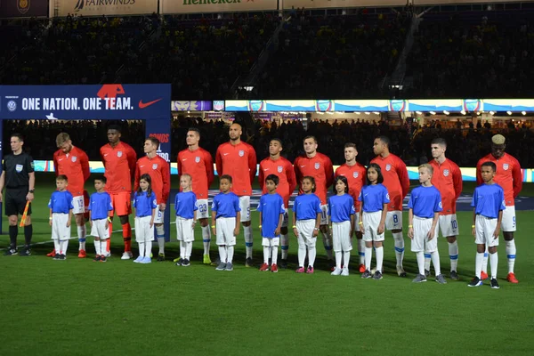
[[(278, 0), (161, 0), (162, 13), (273, 11)], [(349, 0), (347, 0), (349, 1)]]

